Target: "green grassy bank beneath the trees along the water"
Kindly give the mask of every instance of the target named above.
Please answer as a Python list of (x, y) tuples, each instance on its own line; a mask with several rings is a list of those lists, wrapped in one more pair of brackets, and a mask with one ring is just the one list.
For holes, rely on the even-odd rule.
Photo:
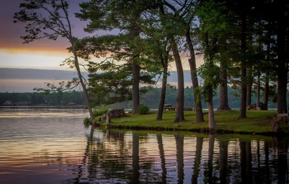
[[(246, 133), (270, 135), (272, 124), (266, 119), (267, 116), (276, 114), (276, 111), (247, 111), (247, 118), (237, 120), (238, 110), (220, 112), (215, 115), (216, 132), (223, 133)], [(208, 115), (204, 116), (205, 122), (196, 123), (195, 112), (185, 111), (185, 121), (182, 123), (173, 123), (175, 111), (164, 111), (163, 120), (156, 121), (157, 112), (150, 112), (147, 115), (131, 115), (126, 118), (112, 119), (110, 126), (112, 128), (129, 128), (129, 129), (148, 129), (148, 130), (182, 130), (182, 131), (206, 131), (209, 124)], [(105, 125), (105, 122), (102, 122)], [(289, 127), (282, 124), (284, 132), (289, 134)]]

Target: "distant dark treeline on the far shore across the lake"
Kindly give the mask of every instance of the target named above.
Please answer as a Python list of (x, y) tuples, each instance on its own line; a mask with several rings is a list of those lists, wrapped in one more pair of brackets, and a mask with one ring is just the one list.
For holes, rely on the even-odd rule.
[[(238, 92), (231, 87), (228, 86), (228, 102), (229, 107), (231, 108), (240, 108), (240, 97), (238, 97)], [(149, 92), (141, 94), (141, 104), (146, 104), (150, 108), (158, 108), (159, 106), (159, 99), (161, 95), (161, 88), (152, 89)], [(165, 104), (172, 104), (176, 106), (176, 97), (177, 97), (177, 90), (173, 88), (167, 88), (166, 90), (166, 98)], [(287, 100), (289, 99), (289, 92), (287, 92)], [(60, 93), (50, 93), (48, 95), (43, 95), (41, 93), (36, 92), (2, 92), (0, 93), (0, 104), (2, 105), (6, 100), (11, 100), (13, 103), (17, 101), (27, 101), (30, 105), (40, 105), (45, 103), (45, 101), (49, 102), (50, 105), (67, 105), (68, 103), (75, 103), (76, 105), (83, 105), (85, 104), (83, 93), (77, 91), (71, 92), (63, 92)], [(252, 95), (252, 104), (255, 104), (257, 101), (256, 94), (253, 93)], [(261, 92), (261, 100), (263, 102), (263, 92)], [(218, 108), (219, 106), (219, 89), (216, 91), (216, 96), (213, 98), (214, 108)], [(202, 102), (204, 108), (207, 108), (207, 103)], [(131, 101), (125, 101), (118, 104), (109, 105), (109, 107), (117, 108), (117, 107), (124, 107), (124, 108), (132, 108)], [(193, 88), (187, 87), (185, 88), (185, 107), (193, 107)], [(268, 104), (269, 108), (277, 108), (277, 104), (269, 101)]]

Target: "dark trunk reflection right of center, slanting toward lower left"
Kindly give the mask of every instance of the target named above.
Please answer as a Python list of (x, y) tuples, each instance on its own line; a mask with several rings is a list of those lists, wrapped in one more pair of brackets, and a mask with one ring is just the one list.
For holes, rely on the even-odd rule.
[(193, 175), (192, 175), (192, 184), (198, 183), (198, 177), (200, 173), (200, 164), (202, 157), (202, 148), (203, 148), (203, 138), (196, 138), (196, 154), (193, 162)]

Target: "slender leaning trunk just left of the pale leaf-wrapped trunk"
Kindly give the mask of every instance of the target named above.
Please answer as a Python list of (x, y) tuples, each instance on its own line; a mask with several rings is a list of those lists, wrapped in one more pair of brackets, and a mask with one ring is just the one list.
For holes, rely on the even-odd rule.
[(195, 88), (199, 87), (199, 82), (198, 82), (198, 77), (197, 77), (197, 72), (196, 72), (196, 58), (195, 58), (195, 53), (193, 49), (193, 43), (191, 40), (191, 35), (190, 35), (190, 29), (186, 32), (186, 41), (189, 46), (190, 50), (190, 56), (191, 58), (189, 59), (189, 64), (190, 64), (190, 69), (191, 69), (191, 78), (193, 82), (193, 96), (194, 96), (194, 105), (196, 107), (196, 122), (204, 122), (204, 115), (203, 115), (203, 108), (202, 108), (202, 103), (197, 101), (197, 92), (194, 91)]

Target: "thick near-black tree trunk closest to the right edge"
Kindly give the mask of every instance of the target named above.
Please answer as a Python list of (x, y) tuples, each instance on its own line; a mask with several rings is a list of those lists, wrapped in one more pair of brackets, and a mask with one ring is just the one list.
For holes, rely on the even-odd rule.
[(278, 69), (277, 69), (277, 111), (278, 113), (287, 112), (287, 64), (285, 53), (285, 1), (277, 0), (278, 4), (278, 21), (277, 21), (277, 56), (278, 56)]

